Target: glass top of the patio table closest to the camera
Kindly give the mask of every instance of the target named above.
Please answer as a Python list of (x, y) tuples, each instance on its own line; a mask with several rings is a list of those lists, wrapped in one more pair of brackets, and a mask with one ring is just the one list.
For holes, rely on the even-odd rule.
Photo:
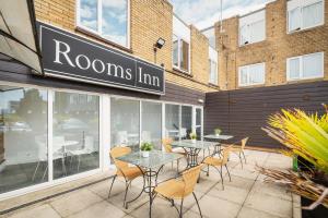
[(149, 157), (142, 157), (141, 152), (136, 152), (118, 157), (117, 159), (142, 168), (151, 169), (172, 162), (180, 157), (183, 157), (183, 155), (164, 153), (162, 150), (151, 150), (149, 153)]

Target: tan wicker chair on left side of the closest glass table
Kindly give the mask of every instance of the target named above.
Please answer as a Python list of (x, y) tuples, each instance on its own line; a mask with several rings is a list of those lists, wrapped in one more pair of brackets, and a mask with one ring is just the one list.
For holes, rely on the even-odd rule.
[[(124, 207), (126, 207), (126, 208), (128, 207), (128, 203), (126, 202), (127, 194), (128, 194), (128, 190), (129, 190), (129, 186), (130, 186), (132, 180), (137, 179), (138, 177), (143, 177), (143, 171), (140, 168), (129, 167), (129, 165), (127, 162), (124, 162), (124, 161), (120, 161), (117, 159), (117, 157), (127, 155), (129, 153), (131, 153), (131, 148), (129, 148), (129, 147), (114, 147), (110, 150), (110, 157), (113, 158), (117, 170), (116, 170), (116, 173), (115, 173), (112, 184), (110, 184), (108, 198), (110, 197), (112, 187), (113, 187), (113, 184), (114, 184), (116, 178), (117, 177), (124, 178), (125, 182), (126, 182)], [(143, 180), (143, 189), (144, 189), (144, 180)], [(142, 194), (143, 189), (141, 190), (140, 194), (134, 199), (137, 199)], [(130, 202), (133, 202), (134, 199), (132, 199)]]

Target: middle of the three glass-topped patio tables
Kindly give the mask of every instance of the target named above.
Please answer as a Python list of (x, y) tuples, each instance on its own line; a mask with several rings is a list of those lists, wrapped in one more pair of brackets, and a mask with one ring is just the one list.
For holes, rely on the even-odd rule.
[(186, 169), (198, 166), (198, 154), (202, 149), (214, 146), (215, 142), (183, 140), (172, 143), (172, 147), (181, 147), (187, 153), (187, 167)]

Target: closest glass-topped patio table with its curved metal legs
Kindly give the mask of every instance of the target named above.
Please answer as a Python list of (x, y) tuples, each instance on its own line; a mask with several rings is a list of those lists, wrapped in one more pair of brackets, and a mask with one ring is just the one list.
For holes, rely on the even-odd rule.
[[(142, 171), (143, 182), (144, 182), (143, 192), (149, 194), (149, 203), (150, 203), (149, 217), (152, 217), (152, 210), (151, 210), (152, 203), (153, 203), (152, 192), (157, 186), (159, 172), (161, 171), (164, 165), (177, 160), (178, 158), (181, 157), (183, 155), (179, 154), (164, 153), (162, 150), (151, 150), (149, 157), (142, 157), (141, 152), (136, 152), (117, 158), (118, 160), (137, 166)], [(147, 185), (145, 185), (145, 181), (147, 181)], [(141, 194), (137, 196), (134, 199), (127, 202), (126, 208), (128, 208), (128, 204), (138, 199), (140, 196)]]

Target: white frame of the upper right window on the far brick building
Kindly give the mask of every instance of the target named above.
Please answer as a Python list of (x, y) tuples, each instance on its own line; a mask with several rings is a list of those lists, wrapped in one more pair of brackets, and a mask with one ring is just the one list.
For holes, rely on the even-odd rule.
[[(296, 7), (296, 8), (300, 8), (301, 17), (298, 17), (298, 19), (300, 19), (300, 22), (301, 22), (301, 26), (300, 26), (300, 29), (290, 31), (290, 11), (292, 11), (296, 8), (292, 9), (292, 10), (289, 10), (288, 7), (286, 7), (286, 33), (288, 34), (302, 32), (302, 31), (314, 28), (314, 27), (321, 26), (321, 25), (325, 24), (325, 0), (316, 0), (314, 2), (306, 2), (306, 0), (292, 0), (292, 1), (298, 1), (298, 3), (300, 3), (300, 5)], [(304, 27), (304, 25), (303, 25), (303, 8), (315, 4), (315, 3), (318, 3), (318, 2), (323, 2), (323, 10), (321, 10), (323, 21), (319, 24)]]

